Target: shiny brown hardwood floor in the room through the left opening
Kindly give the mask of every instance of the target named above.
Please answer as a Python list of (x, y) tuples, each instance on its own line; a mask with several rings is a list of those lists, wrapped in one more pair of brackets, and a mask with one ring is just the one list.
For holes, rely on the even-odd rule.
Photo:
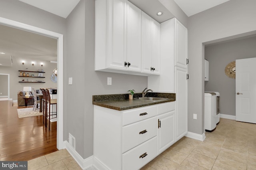
[(42, 116), (19, 119), (17, 108), (0, 101), (0, 160), (26, 161), (57, 151), (57, 123), (48, 131)]

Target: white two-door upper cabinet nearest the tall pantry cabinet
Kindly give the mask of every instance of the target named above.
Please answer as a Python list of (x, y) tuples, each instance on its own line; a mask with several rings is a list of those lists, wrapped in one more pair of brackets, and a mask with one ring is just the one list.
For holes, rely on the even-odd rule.
[(160, 74), (160, 24), (142, 12), (142, 73)]

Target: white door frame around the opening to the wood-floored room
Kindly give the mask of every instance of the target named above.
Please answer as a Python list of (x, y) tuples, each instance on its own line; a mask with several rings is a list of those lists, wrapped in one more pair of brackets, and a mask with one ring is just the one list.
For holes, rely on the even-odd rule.
[(57, 68), (58, 68), (57, 148), (59, 150), (63, 149), (64, 148), (64, 142), (63, 142), (63, 44), (64, 44), (63, 34), (52, 32), (49, 30), (44, 30), (42, 28), (30, 26), (28, 24), (23, 24), (21, 22), (16, 22), (16, 21), (9, 20), (2, 17), (0, 17), (0, 24), (57, 39), (57, 61), (58, 61), (57, 62)]

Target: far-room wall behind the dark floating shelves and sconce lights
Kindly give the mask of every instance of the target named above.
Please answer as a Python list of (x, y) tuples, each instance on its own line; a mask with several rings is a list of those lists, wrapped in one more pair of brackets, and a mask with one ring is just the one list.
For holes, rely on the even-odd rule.
[[(26, 60), (27, 62), (25, 62), (23, 65), (22, 60)], [(30, 86), (32, 88), (34, 87), (35, 89), (57, 87), (57, 83), (53, 83), (50, 79), (50, 76), (52, 75), (52, 71), (57, 67), (57, 64), (50, 63), (50, 61), (33, 59), (33, 61), (35, 62), (35, 65), (32, 65), (31, 61), (32, 59), (12, 56), (12, 62), (13, 62), (12, 67), (0, 66), (0, 73), (10, 74), (10, 99), (17, 100), (17, 93), (18, 91), (23, 90), (24, 86)], [(43, 66), (40, 65), (41, 62), (44, 63)], [(38, 69), (43, 69), (45, 72), (43, 73), (43, 77), (45, 78), (18, 77), (20, 75), (20, 71), (18, 70), (26, 70), (26, 68), (28, 68), (28, 71), (37, 71)], [(34, 74), (35, 76), (38, 76), (38, 73), (32, 73), (32, 72), (26, 72), (26, 73), (29, 73), (29, 75)], [(28, 81), (35, 81), (35, 82), (36, 80), (43, 80), (45, 83), (19, 83), (19, 81), (22, 81), (22, 79), (24, 79), (24, 81), (27, 81), (28, 79)]]

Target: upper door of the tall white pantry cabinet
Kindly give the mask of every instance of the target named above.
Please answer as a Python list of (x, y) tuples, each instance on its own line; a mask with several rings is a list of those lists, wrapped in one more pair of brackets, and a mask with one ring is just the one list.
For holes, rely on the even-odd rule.
[(188, 30), (175, 18), (175, 66), (187, 68)]

